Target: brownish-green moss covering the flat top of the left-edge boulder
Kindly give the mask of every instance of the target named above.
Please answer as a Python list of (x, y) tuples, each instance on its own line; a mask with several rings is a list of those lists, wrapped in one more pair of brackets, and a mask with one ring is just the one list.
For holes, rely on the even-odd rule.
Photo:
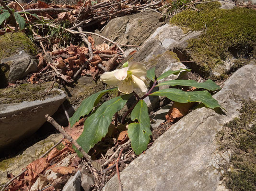
[[(15, 88), (9, 87), (0, 89), (0, 103), (12, 104), (23, 101), (44, 100), (49, 96), (57, 96), (60, 94), (58, 90), (51, 90), (52, 83), (44, 83), (40, 85), (23, 84)], [(46, 92), (45, 90), (48, 90)]]

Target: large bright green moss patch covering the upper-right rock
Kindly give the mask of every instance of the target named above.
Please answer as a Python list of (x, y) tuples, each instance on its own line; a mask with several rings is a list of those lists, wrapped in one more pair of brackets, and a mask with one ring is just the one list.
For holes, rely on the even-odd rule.
[(192, 31), (203, 30), (200, 38), (188, 41), (187, 50), (205, 74), (230, 56), (256, 55), (256, 11), (238, 7), (222, 10), (220, 6), (219, 2), (198, 4), (197, 11), (182, 11), (170, 20)]

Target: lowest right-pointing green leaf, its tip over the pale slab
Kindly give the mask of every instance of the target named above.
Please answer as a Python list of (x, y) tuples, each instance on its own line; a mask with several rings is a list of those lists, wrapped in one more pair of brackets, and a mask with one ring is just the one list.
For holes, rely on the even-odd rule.
[(166, 96), (170, 100), (179, 103), (187, 102), (202, 102), (209, 108), (221, 107), (217, 100), (215, 100), (208, 91), (197, 91), (197, 92), (184, 92), (180, 89), (163, 89), (150, 94), (150, 96)]

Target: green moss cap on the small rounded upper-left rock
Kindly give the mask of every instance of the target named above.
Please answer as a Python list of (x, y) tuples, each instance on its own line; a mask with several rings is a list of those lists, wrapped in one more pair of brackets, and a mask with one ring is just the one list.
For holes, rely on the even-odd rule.
[(0, 36), (0, 59), (13, 56), (24, 50), (35, 56), (37, 47), (23, 32), (8, 32)]

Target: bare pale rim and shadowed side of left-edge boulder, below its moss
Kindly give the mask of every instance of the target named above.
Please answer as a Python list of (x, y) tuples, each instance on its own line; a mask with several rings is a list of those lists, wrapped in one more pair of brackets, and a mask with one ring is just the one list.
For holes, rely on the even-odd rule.
[[(0, 105), (0, 150), (32, 135), (53, 115), (66, 99), (62, 90), (44, 100)], [(43, 92), (42, 92), (43, 93)]]

